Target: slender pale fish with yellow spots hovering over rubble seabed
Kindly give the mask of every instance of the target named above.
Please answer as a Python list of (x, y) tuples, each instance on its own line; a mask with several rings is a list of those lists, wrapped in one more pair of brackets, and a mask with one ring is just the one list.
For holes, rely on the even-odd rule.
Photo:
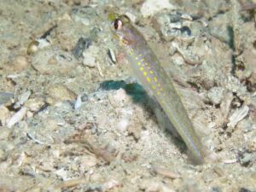
[(195, 164), (204, 163), (201, 142), (195, 134), (194, 126), (172, 84), (171, 77), (160, 66), (153, 50), (150, 49), (137, 28), (132, 26), (127, 16), (110, 14), (109, 19), (113, 37), (125, 50), (127, 60), (130, 62), (137, 79), (146, 90), (153, 92), (155, 99), (160, 103), (161, 108), (189, 148)]

